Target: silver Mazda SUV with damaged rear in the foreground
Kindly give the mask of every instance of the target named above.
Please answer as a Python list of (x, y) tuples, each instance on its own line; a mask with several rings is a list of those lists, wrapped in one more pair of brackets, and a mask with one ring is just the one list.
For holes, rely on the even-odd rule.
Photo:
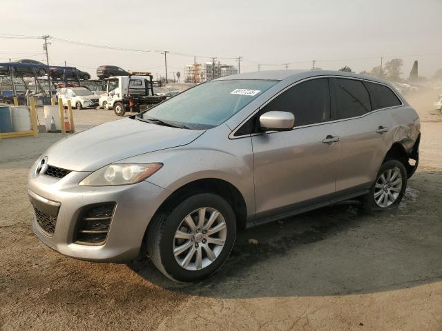
[(394, 208), (419, 130), (416, 111), (372, 77), (215, 79), (50, 147), (29, 173), (33, 228), (89, 261), (133, 259), (145, 243), (167, 277), (195, 281), (226, 261), (239, 228), (355, 197)]

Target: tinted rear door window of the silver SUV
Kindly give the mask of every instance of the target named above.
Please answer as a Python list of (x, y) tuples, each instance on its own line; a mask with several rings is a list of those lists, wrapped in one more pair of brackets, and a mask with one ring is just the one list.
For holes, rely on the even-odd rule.
[(372, 110), (368, 91), (362, 81), (342, 78), (333, 81), (336, 99), (334, 119), (358, 117)]

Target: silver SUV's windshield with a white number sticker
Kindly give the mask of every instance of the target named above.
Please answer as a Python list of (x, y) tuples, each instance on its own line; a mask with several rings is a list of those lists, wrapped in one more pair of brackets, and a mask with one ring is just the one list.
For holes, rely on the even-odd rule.
[(208, 81), (186, 90), (140, 114), (142, 119), (160, 119), (204, 130), (219, 126), (278, 81)]

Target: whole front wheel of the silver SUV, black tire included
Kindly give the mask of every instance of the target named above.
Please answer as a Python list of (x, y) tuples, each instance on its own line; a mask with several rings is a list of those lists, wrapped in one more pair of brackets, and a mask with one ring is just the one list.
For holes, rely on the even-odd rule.
[[(189, 219), (190, 215), (194, 227), (198, 228), (202, 209), (206, 211), (204, 226), (208, 225), (209, 232), (217, 227), (222, 230), (212, 234), (207, 234), (209, 232), (204, 234), (206, 230), (201, 229), (191, 230), (186, 219)], [(215, 221), (208, 224), (215, 212), (219, 212), (218, 216), (215, 214)], [(180, 234), (178, 230), (181, 231)], [(183, 234), (188, 237), (186, 239), (175, 237)], [(158, 270), (173, 281), (187, 283), (200, 281), (216, 272), (229, 257), (235, 238), (236, 217), (231, 205), (216, 194), (200, 193), (171, 205), (168, 210), (155, 215), (148, 228), (146, 247)], [(184, 249), (183, 247), (188, 248), (175, 257), (174, 251), (180, 251), (180, 248)]]

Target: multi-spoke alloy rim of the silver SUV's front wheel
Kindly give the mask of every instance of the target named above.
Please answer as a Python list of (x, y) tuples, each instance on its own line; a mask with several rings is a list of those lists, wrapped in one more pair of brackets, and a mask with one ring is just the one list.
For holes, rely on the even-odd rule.
[(186, 270), (201, 270), (218, 258), (227, 238), (227, 225), (214, 208), (193, 210), (181, 221), (173, 238), (173, 255)]

